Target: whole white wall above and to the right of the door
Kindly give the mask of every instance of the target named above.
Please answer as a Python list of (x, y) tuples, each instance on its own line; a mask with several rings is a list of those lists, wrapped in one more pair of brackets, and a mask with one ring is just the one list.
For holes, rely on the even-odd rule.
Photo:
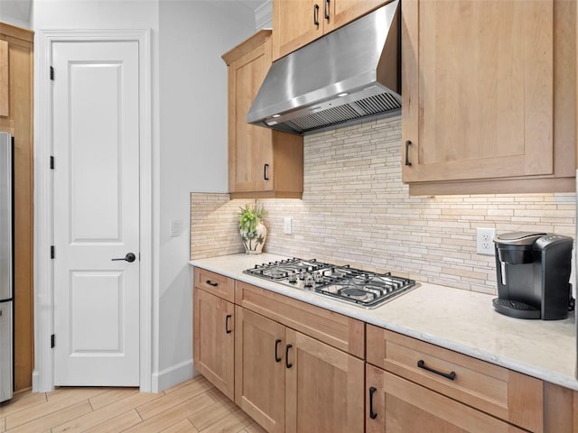
[[(154, 392), (192, 373), (189, 193), (227, 190), (227, 80), (220, 55), (255, 32), (255, 16), (247, 8), (231, 1), (223, 13), (221, 3), (219, 7), (211, 0), (33, 3), (35, 32), (151, 29), (154, 197), (153, 226), (145, 229), (153, 232), (154, 250)], [(35, 52), (35, 61), (40, 55)], [(34, 79), (38, 83), (44, 78)], [(171, 220), (182, 222), (177, 237), (169, 236)]]

